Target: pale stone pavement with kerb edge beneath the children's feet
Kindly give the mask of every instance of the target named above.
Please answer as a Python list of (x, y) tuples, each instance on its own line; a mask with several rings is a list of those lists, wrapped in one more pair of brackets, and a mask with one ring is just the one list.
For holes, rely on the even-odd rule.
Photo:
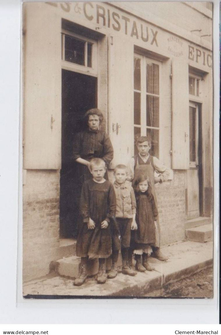
[[(168, 255), (166, 262), (150, 257), (149, 262), (155, 271), (139, 272), (130, 277), (118, 273), (114, 279), (105, 284), (97, 284), (94, 277), (89, 277), (82, 286), (73, 286), (73, 279), (62, 276), (51, 276), (35, 279), (23, 285), (23, 296), (29, 295), (62, 295), (62, 296), (142, 296), (154, 289), (159, 289), (169, 282), (175, 282), (199, 272), (213, 264), (213, 243), (182, 242), (162, 248)], [(63, 264), (65, 260), (63, 259)], [(73, 267), (78, 269), (79, 260), (73, 259)], [(62, 270), (62, 267), (60, 268)], [(70, 270), (71, 272), (71, 270)], [(69, 272), (69, 273), (70, 273)], [(66, 272), (67, 273), (67, 272)], [(72, 275), (72, 273), (70, 273)]]

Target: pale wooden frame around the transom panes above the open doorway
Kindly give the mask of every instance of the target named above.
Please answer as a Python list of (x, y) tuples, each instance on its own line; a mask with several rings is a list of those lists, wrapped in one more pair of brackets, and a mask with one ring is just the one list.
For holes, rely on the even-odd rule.
[[(79, 65), (76, 63), (68, 62), (65, 60), (65, 36), (70, 36), (76, 40), (92, 44), (92, 57), (91, 65), (88, 67), (85, 65)], [(73, 33), (70, 30), (62, 29), (61, 31), (61, 44), (62, 44), (62, 54), (61, 54), (61, 67), (64, 70), (75, 71), (82, 74), (87, 74), (90, 76), (98, 76), (98, 42), (96, 40), (88, 39), (84, 36)], [(87, 60), (87, 47), (84, 50), (84, 58)]]

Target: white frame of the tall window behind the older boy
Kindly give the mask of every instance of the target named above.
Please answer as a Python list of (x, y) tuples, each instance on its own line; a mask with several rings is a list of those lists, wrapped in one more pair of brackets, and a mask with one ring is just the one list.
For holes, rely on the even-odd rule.
[[(159, 157), (161, 157), (161, 98), (162, 98), (162, 90), (161, 90), (161, 76), (162, 76), (162, 62), (157, 61), (155, 59), (146, 57), (144, 55), (140, 55), (138, 53), (134, 53), (134, 59), (140, 59), (140, 68), (141, 68), (141, 90), (134, 89), (134, 75), (133, 75), (133, 118), (134, 118), (134, 92), (138, 92), (141, 94), (141, 106), (140, 106), (140, 125), (134, 124), (133, 120), (133, 137), (134, 137), (134, 128), (140, 128), (141, 136), (146, 136), (147, 129), (153, 129), (159, 131), (159, 142), (158, 142), (158, 150)], [(146, 91), (146, 64), (153, 63), (159, 66), (159, 94), (147, 93)], [(159, 127), (151, 127), (147, 126), (147, 112), (146, 112), (146, 96), (156, 96), (159, 98)], [(133, 147), (134, 150), (134, 147)]]

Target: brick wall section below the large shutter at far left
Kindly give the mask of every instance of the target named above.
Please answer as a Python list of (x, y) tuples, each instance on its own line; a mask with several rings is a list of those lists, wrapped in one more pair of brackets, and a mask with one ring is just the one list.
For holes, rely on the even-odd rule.
[(59, 247), (59, 171), (28, 170), (23, 186), (23, 280), (49, 273)]

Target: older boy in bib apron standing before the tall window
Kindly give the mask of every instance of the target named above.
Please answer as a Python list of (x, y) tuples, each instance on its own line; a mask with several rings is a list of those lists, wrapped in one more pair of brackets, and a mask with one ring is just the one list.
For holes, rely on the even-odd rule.
[[(137, 140), (138, 155), (131, 158), (129, 162), (129, 178), (132, 181), (132, 186), (141, 174), (146, 174), (151, 182), (152, 194), (155, 199), (157, 206), (157, 199), (155, 195), (154, 184), (162, 183), (169, 178), (170, 171), (167, 167), (156, 157), (149, 154), (151, 148), (151, 138), (147, 136), (141, 136)], [(154, 172), (159, 174), (158, 177), (154, 176)], [(167, 257), (160, 251), (160, 229), (159, 222), (156, 225), (156, 243), (152, 246), (152, 256), (159, 259), (160, 261), (167, 260)]]

